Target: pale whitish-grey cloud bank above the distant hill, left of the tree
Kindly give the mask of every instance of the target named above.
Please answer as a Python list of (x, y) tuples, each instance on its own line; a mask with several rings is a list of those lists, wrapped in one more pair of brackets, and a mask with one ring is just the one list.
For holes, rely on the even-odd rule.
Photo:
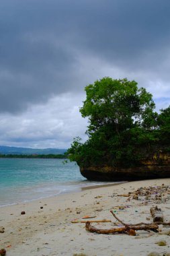
[(82, 94), (62, 94), (17, 116), (1, 114), (0, 145), (68, 148), (77, 135), (85, 140), (87, 121), (79, 113), (82, 100)]

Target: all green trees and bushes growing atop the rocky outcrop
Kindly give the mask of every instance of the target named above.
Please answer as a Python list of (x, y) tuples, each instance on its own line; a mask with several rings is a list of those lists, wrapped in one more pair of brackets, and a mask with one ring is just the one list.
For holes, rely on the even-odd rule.
[(153, 150), (169, 150), (170, 106), (155, 112), (152, 95), (135, 81), (103, 77), (85, 87), (80, 108), (88, 139), (76, 137), (70, 160), (79, 166), (138, 166)]

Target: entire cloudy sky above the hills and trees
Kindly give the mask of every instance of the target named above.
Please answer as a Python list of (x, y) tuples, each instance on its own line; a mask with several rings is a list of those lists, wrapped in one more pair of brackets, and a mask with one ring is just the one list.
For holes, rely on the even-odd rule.
[(0, 145), (69, 148), (102, 77), (170, 104), (169, 0), (1, 0)]

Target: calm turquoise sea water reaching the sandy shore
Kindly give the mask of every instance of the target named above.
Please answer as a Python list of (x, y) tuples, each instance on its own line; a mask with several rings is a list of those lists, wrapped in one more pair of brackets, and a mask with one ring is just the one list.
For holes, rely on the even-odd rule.
[(110, 183), (85, 179), (76, 162), (0, 158), (0, 207), (107, 184)]

